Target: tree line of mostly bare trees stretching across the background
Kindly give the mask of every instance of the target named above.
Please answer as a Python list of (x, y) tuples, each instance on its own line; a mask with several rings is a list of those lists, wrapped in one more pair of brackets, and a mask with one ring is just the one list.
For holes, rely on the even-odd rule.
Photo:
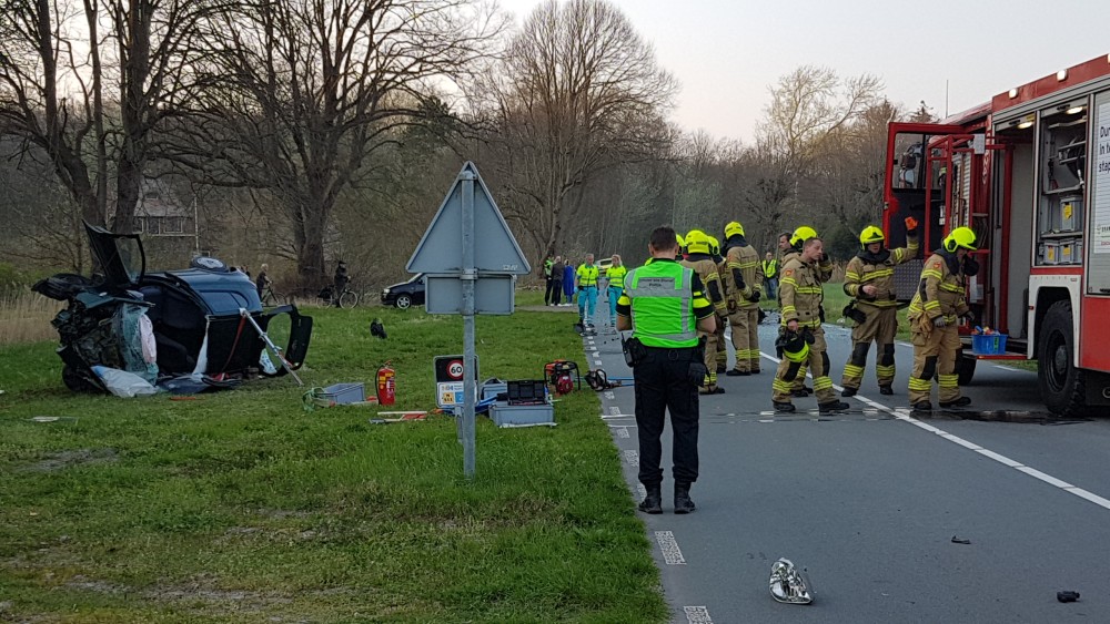
[(846, 256), (879, 218), (886, 124), (932, 119), (801, 67), (749, 94), (769, 103), (743, 143), (670, 122), (678, 89), (609, 0), (518, 28), (476, 0), (0, 0), (0, 242), (81, 270), (81, 222), (130, 232), (158, 181), (233, 264), (312, 287), (342, 258), (380, 285), (471, 160), (537, 262), (729, 221)]

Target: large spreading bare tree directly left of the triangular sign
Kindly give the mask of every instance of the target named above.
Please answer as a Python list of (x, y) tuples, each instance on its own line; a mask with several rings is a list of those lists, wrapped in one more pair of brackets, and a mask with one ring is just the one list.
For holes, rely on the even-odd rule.
[(367, 156), (501, 28), (468, 0), (242, 2), (213, 24), (202, 105), (173, 158), (209, 184), (269, 190), (302, 285), (317, 284), (333, 208)]

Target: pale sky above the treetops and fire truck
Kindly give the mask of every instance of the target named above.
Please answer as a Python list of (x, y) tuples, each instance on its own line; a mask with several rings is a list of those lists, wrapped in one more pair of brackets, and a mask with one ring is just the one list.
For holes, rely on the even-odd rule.
[[(542, 0), (498, 0), (522, 23)], [(672, 119), (750, 142), (798, 67), (877, 75), (944, 117), (1110, 53), (1108, 0), (612, 0), (682, 83)], [(1102, 34), (1100, 35), (1100, 32)]]

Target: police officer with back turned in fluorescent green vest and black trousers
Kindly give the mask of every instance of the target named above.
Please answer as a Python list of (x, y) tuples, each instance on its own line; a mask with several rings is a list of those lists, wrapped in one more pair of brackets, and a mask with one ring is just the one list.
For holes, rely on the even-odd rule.
[(698, 334), (713, 334), (714, 309), (697, 273), (675, 262), (675, 231), (657, 227), (647, 247), (652, 257), (625, 276), (617, 304), (617, 329), (632, 329), (627, 349), (636, 381), (639, 481), (647, 497), (639, 510), (663, 513), (663, 434), (670, 410), (675, 513), (694, 511), (690, 485), (697, 480), (698, 392), (705, 377)]

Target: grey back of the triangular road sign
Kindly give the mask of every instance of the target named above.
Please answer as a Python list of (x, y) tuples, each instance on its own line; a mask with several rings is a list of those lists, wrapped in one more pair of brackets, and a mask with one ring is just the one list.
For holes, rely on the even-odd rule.
[(483, 273), (527, 275), (532, 272), (505, 217), (474, 163), (467, 162), (416, 245), (408, 273), (455, 274), (463, 270), (463, 187), (474, 180), (474, 268)]

